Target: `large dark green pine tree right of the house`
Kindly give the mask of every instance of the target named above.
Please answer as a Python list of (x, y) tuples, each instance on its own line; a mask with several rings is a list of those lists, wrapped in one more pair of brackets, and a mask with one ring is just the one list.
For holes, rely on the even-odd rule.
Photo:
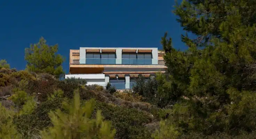
[(256, 128), (256, 1), (183, 0), (174, 13), (185, 52), (162, 38), (168, 76), (160, 89), (176, 103), (172, 123), (183, 132), (238, 133)]

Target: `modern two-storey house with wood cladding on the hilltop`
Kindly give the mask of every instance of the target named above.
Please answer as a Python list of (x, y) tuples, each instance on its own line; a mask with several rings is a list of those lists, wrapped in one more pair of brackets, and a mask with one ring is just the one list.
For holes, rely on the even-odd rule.
[(130, 89), (140, 74), (150, 78), (157, 72), (164, 73), (164, 53), (157, 48), (92, 48), (70, 50), (69, 74), (87, 80), (87, 84), (106, 86), (109, 82), (116, 89)]

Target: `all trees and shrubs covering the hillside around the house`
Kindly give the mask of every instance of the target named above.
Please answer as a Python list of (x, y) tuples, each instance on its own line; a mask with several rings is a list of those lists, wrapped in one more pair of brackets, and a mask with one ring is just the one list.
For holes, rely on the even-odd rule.
[(24, 71), (0, 61), (0, 139), (254, 139), (256, 1), (184, 0), (187, 51), (162, 37), (168, 70), (133, 91), (64, 79), (58, 46), (25, 51)]

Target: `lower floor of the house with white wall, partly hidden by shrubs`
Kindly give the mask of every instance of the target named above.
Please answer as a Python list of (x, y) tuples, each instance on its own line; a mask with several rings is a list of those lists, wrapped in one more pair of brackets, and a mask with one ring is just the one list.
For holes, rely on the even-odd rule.
[[(155, 74), (141, 74), (146, 80), (154, 77)], [(109, 82), (116, 89), (132, 89), (135, 85), (138, 74), (67, 74), (65, 79), (75, 77), (86, 79), (87, 85), (98, 84), (103, 87)]]

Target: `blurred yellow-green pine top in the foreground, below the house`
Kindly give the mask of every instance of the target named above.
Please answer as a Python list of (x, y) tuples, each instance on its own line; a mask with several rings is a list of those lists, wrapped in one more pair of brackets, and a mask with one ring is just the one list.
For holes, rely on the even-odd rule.
[(79, 92), (75, 92), (72, 104), (64, 102), (63, 105), (68, 113), (63, 113), (60, 109), (49, 113), (54, 126), (42, 132), (43, 139), (114, 138), (115, 130), (111, 130), (110, 122), (103, 121), (100, 111), (97, 111), (95, 119), (91, 118), (94, 100), (80, 107)]

